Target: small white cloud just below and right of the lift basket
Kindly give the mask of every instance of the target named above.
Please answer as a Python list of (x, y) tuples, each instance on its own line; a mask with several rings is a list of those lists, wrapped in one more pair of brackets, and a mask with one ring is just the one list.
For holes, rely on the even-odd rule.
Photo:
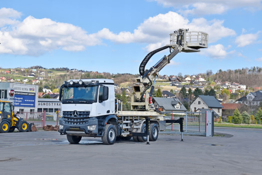
[(216, 59), (223, 59), (229, 54), (234, 53), (235, 50), (227, 52), (227, 48), (224, 47), (222, 44), (216, 44), (216, 45), (211, 45), (209, 48), (203, 49), (200, 54), (216, 58)]

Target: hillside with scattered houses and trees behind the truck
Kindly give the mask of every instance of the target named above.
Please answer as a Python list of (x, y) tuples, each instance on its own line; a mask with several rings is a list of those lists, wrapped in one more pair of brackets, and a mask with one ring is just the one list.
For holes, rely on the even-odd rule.
[[(132, 92), (132, 84), (137, 76), (69, 68), (46, 69), (41, 66), (0, 69), (0, 82), (38, 85), (39, 98), (58, 98), (60, 84), (66, 79), (111, 78), (115, 81), (116, 96), (118, 98), (126, 96), (127, 105), (129, 105), (128, 99)], [(203, 73), (185, 76), (181, 74), (159, 76), (153, 93), (154, 105), (162, 111), (198, 112), (212, 109), (218, 119), (222, 117), (224, 120), (228, 120), (228, 116), (233, 115), (236, 108), (241, 112), (248, 111), (250, 114), (255, 114), (259, 110), (262, 104), (261, 87), (247, 86), (240, 82), (222, 81), (216, 77), (217, 74)], [(157, 95), (157, 91), (160, 91), (161, 94)], [(166, 99), (160, 100), (159, 97)], [(196, 101), (199, 106), (194, 106)], [(210, 103), (214, 105), (212, 106)]]

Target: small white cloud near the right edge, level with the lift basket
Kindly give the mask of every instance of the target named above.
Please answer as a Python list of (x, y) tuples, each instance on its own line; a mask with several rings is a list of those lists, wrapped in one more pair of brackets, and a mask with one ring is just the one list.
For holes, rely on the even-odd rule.
[(258, 37), (259, 37), (259, 32), (255, 34), (254, 33), (242, 34), (236, 38), (235, 43), (238, 45), (238, 47), (244, 47), (246, 45), (256, 42)]

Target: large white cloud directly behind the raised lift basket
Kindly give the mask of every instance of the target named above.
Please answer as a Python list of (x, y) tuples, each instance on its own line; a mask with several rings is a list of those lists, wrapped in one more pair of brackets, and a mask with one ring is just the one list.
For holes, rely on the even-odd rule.
[(190, 31), (205, 31), (209, 34), (209, 42), (216, 42), (222, 37), (235, 35), (233, 29), (223, 26), (223, 20), (210, 20), (195, 18), (191, 22), (182, 15), (169, 11), (165, 14), (158, 14), (146, 19), (132, 33), (113, 33), (108, 28), (98, 31), (97, 36), (106, 38), (118, 43), (143, 42), (149, 43), (148, 48), (164, 45), (169, 42), (169, 33), (179, 28), (189, 28)]

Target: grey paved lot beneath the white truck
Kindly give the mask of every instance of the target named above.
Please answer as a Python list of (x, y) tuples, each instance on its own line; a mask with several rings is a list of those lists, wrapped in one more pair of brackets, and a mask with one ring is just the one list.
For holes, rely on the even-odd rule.
[(89, 137), (69, 144), (56, 131), (0, 133), (0, 174), (262, 174), (262, 131), (224, 133), (184, 135), (183, 142), (159, 135), (150, 145)]

